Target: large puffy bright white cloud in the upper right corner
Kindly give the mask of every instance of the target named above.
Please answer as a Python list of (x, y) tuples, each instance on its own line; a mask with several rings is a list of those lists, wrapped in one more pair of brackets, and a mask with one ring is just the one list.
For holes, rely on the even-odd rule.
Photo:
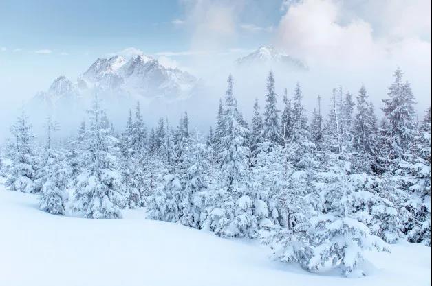
[[(422, 2), (426, 5), (426, 0)], [(415, 18), (415, 13), (402, 19), (407, 10), (417, 11), (416, 6), (409, 8), (409, 3), (398, 6), (393, 1), (374, 1), (380, 3), (374, 4), (379, 9), (373, 9), (367, 1), (356, 3), (360, 4), (353, 8), (349, 8), (349, 1), (304, 0), (291, 3), (279, 23), (277, 44), (310, 64), (327, 64), (330, 67), (340, 64), (345, 67), (369, 67), (372, 63), (395, 59), (402, 47), (409, 44), (413, 46), (406, 56), (411, 60), (430, 59), (430, 52), (420, 55), (415, 48), (416, 45), (430, 46), (430, 41), (419, 39), (420, 31), (428, 34), (426, 23), (429, 23), (430, 38), (430, 12), (429, 19), (415, 24), (412, 23), (414, 20), (409, 21)], [(384, 19), (361, 17), (363, 14), (374, 14), (373, 10), (380, 10), (379, 16)], [(390, 24), (391, 18), (394, 18), (393, 24)], [(386, 28), (374, 34), (374, 27), (383, 25)]]

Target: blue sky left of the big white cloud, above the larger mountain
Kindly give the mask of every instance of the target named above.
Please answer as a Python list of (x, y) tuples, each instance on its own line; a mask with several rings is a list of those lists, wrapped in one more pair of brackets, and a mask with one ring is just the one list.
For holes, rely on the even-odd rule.
[[(269, 1), (1, 0), (0, 85), (31, 95), (58, 75), (76, 78), (98, 57), (135, 47), (147, 54), (184, 53), (194, 48), (197, 29), (214, 7), (228, 14), (233, 35), (215, 49), (255, 49), (270, 43), (283, 11)], [(200, 11), (202, 10), (202, 12)], [(201, 16), (197, 14), (203, 14)], [(228, 22), (229, 22), (228, 21)], [(222, 31), (224, 32), (224, 31)], [(208, 31), (204, 31), (207, 36)], [(218, 31), (215, 32), (217, 34)], [(231, 33), (231, 32), (229, 32)], [(228, 34), (229, 34), (228, 33)], [(206, 39), (204, 39), (206, 40)], [(195, 47), (196, 48), (196, 47)], [(176, 58), (177, 57), (177, 58)], [(12, 87), (11, 87), (12, 88)]]

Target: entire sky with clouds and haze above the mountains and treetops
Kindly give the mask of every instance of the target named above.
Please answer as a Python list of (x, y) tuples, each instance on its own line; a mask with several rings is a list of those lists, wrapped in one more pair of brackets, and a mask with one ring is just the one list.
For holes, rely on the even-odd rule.
[(429, 0), (1, 0), (0, 106), (19, 105), (59, 75), (74, 81), (96, 58), (141, 52), (218, 80), (223, 94), (227, 63), (274, 45), (310, 67), (276, 75), (290, 87), (301, 81), (306, 102), (360, 84), (378, 102), (399, 66), (422, 110), (431, 94), (430, 8)]

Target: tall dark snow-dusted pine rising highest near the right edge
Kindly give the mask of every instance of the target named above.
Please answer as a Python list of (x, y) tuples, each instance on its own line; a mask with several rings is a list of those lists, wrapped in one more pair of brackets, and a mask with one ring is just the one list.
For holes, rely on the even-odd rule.
[(389, 98), (383, 99), (385, 117), (389, 122), (390, 158), (406, 158), (415, 132), (414, 96), (409, 82), (402, 82), (402, 71), (393, 74), (395, 82), (389, 87)]

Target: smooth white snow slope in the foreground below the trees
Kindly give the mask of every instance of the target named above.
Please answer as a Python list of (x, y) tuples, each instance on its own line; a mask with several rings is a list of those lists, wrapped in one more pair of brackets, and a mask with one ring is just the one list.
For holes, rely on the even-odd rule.
[(144, 219), (59, 217), (36, 195), (0, 184), (0, 285), (263, 286), (431, 285), (430, 248), (401, 243), (369, 253), (369, 276), (316, 275), (270, 261), (268, 249), (177, 224)]

